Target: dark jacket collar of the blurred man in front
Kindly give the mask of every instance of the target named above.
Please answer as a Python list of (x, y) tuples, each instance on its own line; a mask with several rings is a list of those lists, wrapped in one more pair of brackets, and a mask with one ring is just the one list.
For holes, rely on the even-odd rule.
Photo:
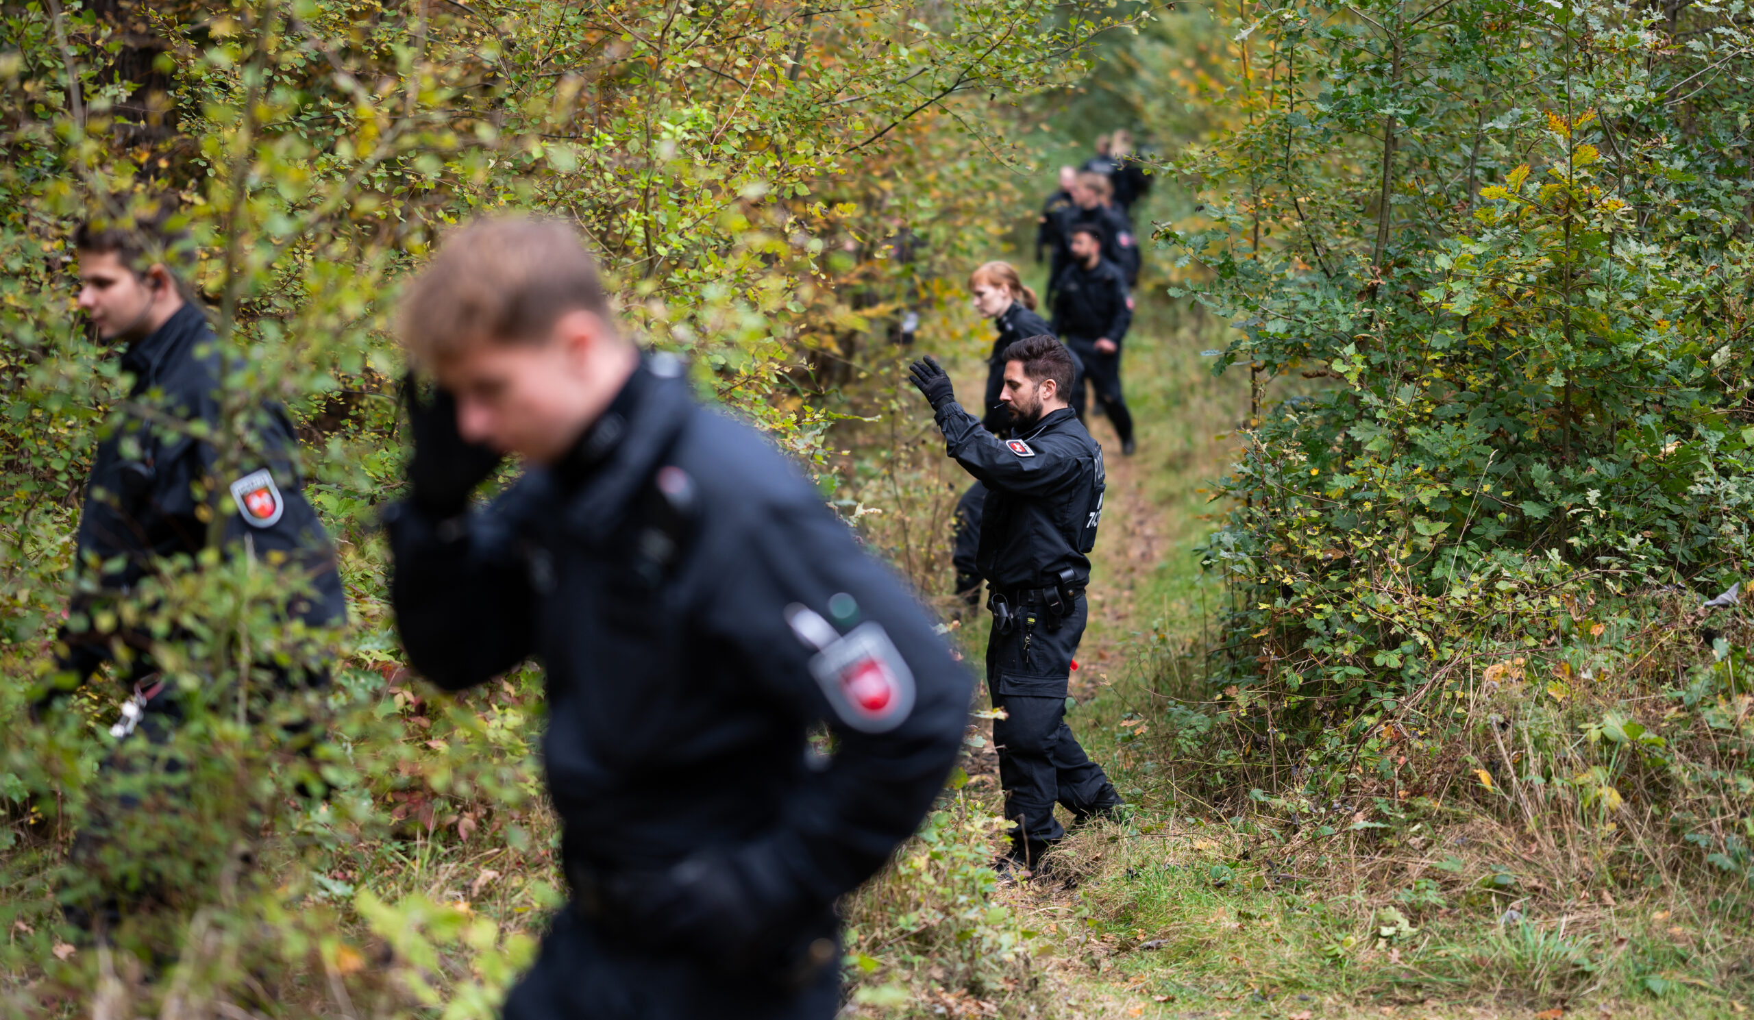
[[(642, 359), (610, 408), (584, 431), (568, 456), (579, 471), (577, 487), (561, 496), (568, 529), (588, 542), (607, 540), (660, 468), (693, 407), (675, 359)], [(579, 464), (579, 459), (584, 463)]]

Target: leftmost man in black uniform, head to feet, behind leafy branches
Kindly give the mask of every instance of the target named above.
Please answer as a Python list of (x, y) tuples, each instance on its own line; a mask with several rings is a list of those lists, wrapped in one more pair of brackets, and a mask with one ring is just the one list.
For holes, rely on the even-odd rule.
[[(200, 645), (188, 631), (156, 633), (128, 605), (151, 577), (196, 568), (198, 556), (247, 556), (284, 573), (282, 622), (312, 627), (340, 624), (346, 598), (335, 571), (335, 550), (305, 501), (293, 424), (272, 401), (244, 408), (242, 419), (221, 414), (219, 344), (207, 317), (184, 296), (170, 268), (189, 252), (189, 240), (167, 230), (161, 203), (116, 223), (91, 221), (74, 233), (79, 308), (98, 338), (118, 347), (128, 387), (100, 433), (86, 477), (84, 506), (74, 550), (75, 589), (67, 622), (54, 641), (56, 673), (32, 692), (32, 713), (51, 717), (107, 661), (128, 691), (111, 727), (119, 738), (100, 766), (114, 782), (93, 797), (72, 843), (77, 875), (58, 890), (70, 924), (107, 936), (126, 913), (174, 892), (188, 878), (181, 792), (170, 787), (170, 810), (142, 813), (142, 797), (170, 773), (175, 755), (147, 761), (142, 752), (172, 740), (186, 719), (193, 692), (170, 682), (156, 654), (167, 645)], [(242, 426), (244, 459), (225, 457), (210, 436)], [(282, 662), (279, 655), (291, 662)], [(253, 662), (254, 676), (282, 685), (328, 680), (323, 648), (281, 643), (275, 655)], [(184, 669), (200, 668), (200, 647), (179, 654)], [(209, 692), (210, 694), (210, 692)], [(281, 719), (279, 738), (309, 750), (307, 724)], [(189, 748), (182, 748), (189, 750)], [(302, 785), (310, 792), (314, 769)]]

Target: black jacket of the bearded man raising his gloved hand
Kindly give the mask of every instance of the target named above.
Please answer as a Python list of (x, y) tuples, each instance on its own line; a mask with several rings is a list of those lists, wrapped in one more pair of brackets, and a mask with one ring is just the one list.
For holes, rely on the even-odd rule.
[(975, 568), (993, 591), (1014, 592), (1089, 580), (1086, 556), (1102, 514), (1102, 447), (1072, 408), (1002, 440), (956, 401), (937, 414), (944, 449), (988, 489)]

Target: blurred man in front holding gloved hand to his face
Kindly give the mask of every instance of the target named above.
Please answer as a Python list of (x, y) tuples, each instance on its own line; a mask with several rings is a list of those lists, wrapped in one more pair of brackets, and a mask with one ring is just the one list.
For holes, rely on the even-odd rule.
[[(460, 230), (402, 336), (438, 382), (388, 517), (409, 657), (447, 689), (545, 668), (572, 906), (505, 1015), (833, 1016), (835, 899), (940, 790), (966, 673), (784, 456), (621, 335), (568, 226)], [(502, 454), (523, 477), (472, 510)]]

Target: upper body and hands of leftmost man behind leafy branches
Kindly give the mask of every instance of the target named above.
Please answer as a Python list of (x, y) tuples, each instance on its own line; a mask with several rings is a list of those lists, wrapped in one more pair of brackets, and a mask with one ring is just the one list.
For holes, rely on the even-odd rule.
[[(118, 659), (133, 698), (112, 733), (140, 727), (153, 740), (168, 736), (181, 692), (165, 684), (149, 634), (105, 627), (142, 578), (217, 545), (226, 556), (247, 550), (300, 575), (288, 617), (332, 626), (347, 612), (335, 550), (303, 496), (286, 410), (272, 401), (249, 408), (246, 459), (221, 473), (219, 450), (205, 438), (228, 428), (219, 344), (170, 270), (189, 242), (165, 230), (167, 219), (168, 210), (156, 207), (133, 223), (86, 223), (74, 235), (79, 308), (100, 338), (119, 345), (130, 410), (98, 440), (79, 517), (79, 587), (56, 641), (61, 671), (37, 696), (44, 710)], [(217, 529), (210, 528), (216, 519)], [(281, 680), (326, 680), (321, 669), (310, 675), (275, 662), (261, 669)]]

